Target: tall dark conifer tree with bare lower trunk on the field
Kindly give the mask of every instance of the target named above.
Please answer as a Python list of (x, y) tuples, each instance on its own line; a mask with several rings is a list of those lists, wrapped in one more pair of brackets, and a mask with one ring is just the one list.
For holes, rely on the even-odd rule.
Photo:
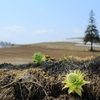
[(100, 42), (99, 32), (98, 32), (95, 24), (96, 23), (95, 23), (95, 19), (94, 19), (94, 13), (93, 13), (93, 10), (91, 10), (90, 18), (89, 18), (89, 25), (87, 26), (87, 29), (85, 31), (85, 37), (84, 37), (85, 44), (87, 42), (91, 43), (90, 51), (93, 51), (93, 43)]

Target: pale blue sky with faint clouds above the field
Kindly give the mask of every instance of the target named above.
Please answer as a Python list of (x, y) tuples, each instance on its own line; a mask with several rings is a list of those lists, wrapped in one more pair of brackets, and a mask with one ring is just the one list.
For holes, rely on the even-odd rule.
[(100, 31), (100, 0), (0, 0), (0, 41), (32, 44), (84, 37), (91, 10)]

